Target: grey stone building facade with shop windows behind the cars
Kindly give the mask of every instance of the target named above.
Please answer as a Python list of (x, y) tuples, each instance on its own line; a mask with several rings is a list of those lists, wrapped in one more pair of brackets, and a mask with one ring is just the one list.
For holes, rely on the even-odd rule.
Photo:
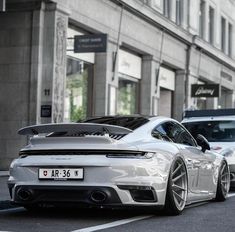
[[(234, 0), (6, 0), (0, 13), (0, 169), (21, 127), (114, 114), (182, 119), (233, 108)], [(106, 34), (106, 52), (74, 36)], [(192, 97), (193, 84), (219, 97)]]

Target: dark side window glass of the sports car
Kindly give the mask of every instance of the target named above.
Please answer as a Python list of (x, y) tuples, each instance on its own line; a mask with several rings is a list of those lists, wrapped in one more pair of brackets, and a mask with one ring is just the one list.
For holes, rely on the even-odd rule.
[(153, 136), (160, 134), (163, 140), (174, 143), (196, 146), (193, 137), (179, 124), (165, 122), (153, 130)]

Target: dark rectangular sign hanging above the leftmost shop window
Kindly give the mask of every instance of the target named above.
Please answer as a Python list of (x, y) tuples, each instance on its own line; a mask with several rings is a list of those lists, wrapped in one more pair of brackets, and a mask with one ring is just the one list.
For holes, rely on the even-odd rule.
[(106, 52), (107, 34), (74, 36), (74, 52)]

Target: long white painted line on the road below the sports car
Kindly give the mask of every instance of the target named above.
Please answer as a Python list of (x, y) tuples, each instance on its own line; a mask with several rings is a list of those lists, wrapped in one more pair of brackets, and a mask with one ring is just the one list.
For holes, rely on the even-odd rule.
[(99, 226), (92, 226), (92, 227), (88, 227), (88, 228), (84, 228), (84, 229), (74, 230), (72, 232), (92, 232), (92, 231), (97, 231), (97, 230), (103, 230), (103, 229), (107, 229), (107, 228), (111, 228), (111, 227), (115, 227), (115, 226), (128, 224), (128, 223), (131, 223), (134, 221), (140, 221), (140, 220), (147, 219), (147, 218), (150, 218), (153, 216), (154, 215), (137, 216), (137, 217), (133, 217), (133, 218), (127, 218), (127, 219), (122, 219), (122, 220), (110, 222), (110, 223), (99, 225)]

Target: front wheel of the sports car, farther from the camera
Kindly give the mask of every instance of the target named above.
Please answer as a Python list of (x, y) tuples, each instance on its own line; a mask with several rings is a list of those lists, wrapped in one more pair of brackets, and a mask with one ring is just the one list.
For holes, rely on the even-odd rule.
[(229, 168), (226, 161), (223, 161), (218, 176), (217, 190), (216, 190), (216, 201), (225, 201), (228, 191), (230, 188), (230, 174)]

